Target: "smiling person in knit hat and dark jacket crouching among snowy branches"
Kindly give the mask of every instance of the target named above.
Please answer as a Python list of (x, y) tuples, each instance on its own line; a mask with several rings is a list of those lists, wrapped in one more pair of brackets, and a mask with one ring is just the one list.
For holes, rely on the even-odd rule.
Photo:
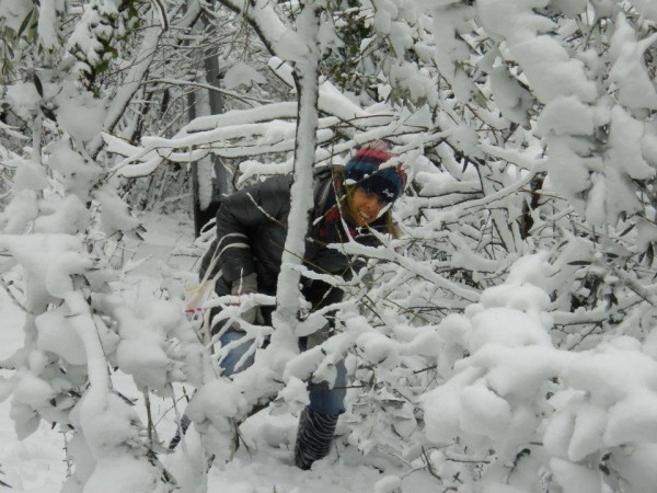
[[(402, 194), (406, 177), (401, 165), (383, 165), (390, 159), (388, 145), (378, 141), (358, 150), (344, 170), (327, 168), (315, 176), (314, 206), (310, 211), (303, 259), (309, 268), (347, 279), (353, 274), (351, 260), (339, 249), (328, 245), (351, 239), (377, 245), (379, 241), (372, 230), (395, 232), (391, 206)], [(218, 296), (276, 294), (291, 184), (290, 175), (277, 175), (221, 199), (216, 220), (217, 238), (204, 256), (199, 272), (201, 278), (216, 278)], [(301, 291), (313, 310), (338, 302), (344, 295), (322, 280), (303, 278), (301, 283)], [(243, 319), (254, 323), (261, 318), (270, 324), (272, 310), (263, 307), (257, 313), (256, 309), (251, 309), (243, 313)], [(215, 334), (220, 325), (212, 329)], [(319, 340), (328, 336), (332, 330), (331, 325), (324, 328)], [(239, 326), (221, 332), (221, 346), (244, 336)], [(301, 337), (300, 349), (315, 344), (316, 334), (312, 339), (315, 342)], [(220, 362), (223, 375), (241, 371), (253, 363), (251, 355), (237, 366), (250, 343), (237, 345)], [(336, 366), (333, 388), (325, 382), (311, 385), (310, 404), (301, 413), (295, 445), (295, 463), (301, 469), (310, 469), (315, 460), (328, 454), (337, 417), (345, 411), (346, 368), (342, 362)]]

